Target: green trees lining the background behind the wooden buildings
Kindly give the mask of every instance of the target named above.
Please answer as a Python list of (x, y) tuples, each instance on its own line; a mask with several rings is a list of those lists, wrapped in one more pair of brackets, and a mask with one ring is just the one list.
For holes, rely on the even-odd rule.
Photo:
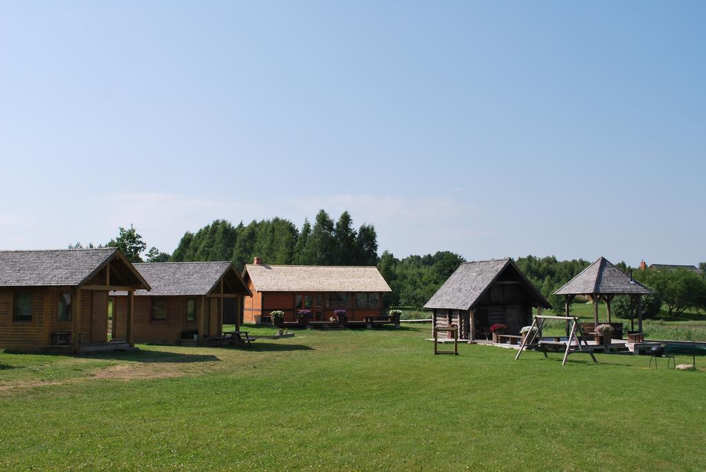
[[(377, 265), (393, 290), (386, 296), (386, 304), (412, 307), (424, 305), (465, 262), (461, 255), (450, 251), (402, 259), (385, 251), (378, 258), (374, 226), (362, 224), (355, 229), (348, 212), (343, 212), (337, 222), (333, 222), (324, 210), (318, 212), (313, 225), (305, 219), (301, 229), (282, 218), (253, 221), (248, 225), (241, 222), (237, 226), (216, 220), (196, 233), (187, 231), (171, 255), (155, 247), (147, 250), (147, 244), (132, 225), (121, 227), (118, 236), (105, 246), (120, 248), (131, 262), (143, 262), (143, 254), (147, 262), (232, 260), (239, 270), (255, 256), (269, 264)], [(77, 243), (69, 247), (82, 246)], [(554, 296), (554, 291), (590, 265), (590, 261), (582, 259), (557, 260), (554, 256), (537, 258), (533, 255), (515, 262), (556, 313), (563, 313), (564, 302), (563, 297)], [(645, 317), (657, 315), (663, 304), (670, 316), (681, 315), (686, 310), (706, 310), (705, 262), (700, 264), (701, 275), (683, 269), (635, 270), (625, 262), (618, 262), (616, 266), (626, 274), (632, 273), (638, 282), (654, 292), (654, 296), (643, 301)], [(634, 314), (636, 310), (627, 297), (616, 298), (613, 309), (618, 316)]]

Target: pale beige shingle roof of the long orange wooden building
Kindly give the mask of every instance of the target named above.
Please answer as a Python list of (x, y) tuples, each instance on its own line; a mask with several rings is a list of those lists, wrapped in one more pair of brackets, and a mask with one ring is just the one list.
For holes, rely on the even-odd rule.
[(248, 264), (244, 274), (257, 291), (392, 291), (375, 266)]

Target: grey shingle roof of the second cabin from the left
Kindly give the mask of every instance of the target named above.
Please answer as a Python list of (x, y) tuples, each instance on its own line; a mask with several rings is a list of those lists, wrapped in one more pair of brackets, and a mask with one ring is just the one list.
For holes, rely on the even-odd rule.
[[(198, 296), (208, 294), (232, 263), (142, 262), (134, 266), (152, 287), (149, 292), (136, 290), (136, 296)], [(112, 295), (126, 295), (126, 292), (112, 292)]]

